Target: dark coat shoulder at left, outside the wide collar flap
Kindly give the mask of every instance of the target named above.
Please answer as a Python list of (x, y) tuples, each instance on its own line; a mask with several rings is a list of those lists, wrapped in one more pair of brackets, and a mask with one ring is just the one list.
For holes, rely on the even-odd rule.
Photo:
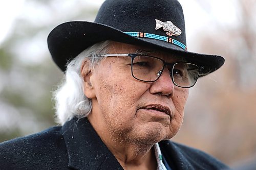
[[(0, 143), (0, 169), (51, 169), (67, 164), (61, 127)], [(30, 167), (30, 168), (29, 168)]]

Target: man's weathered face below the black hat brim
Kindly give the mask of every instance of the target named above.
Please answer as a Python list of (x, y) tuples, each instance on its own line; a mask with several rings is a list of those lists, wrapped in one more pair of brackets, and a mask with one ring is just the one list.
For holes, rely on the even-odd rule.
[[(138, 50), (148, 49), (114, 42), (110, 54)], [(148, 55), (177, 61), (166, 53)], [(108, 57), (87, 77), (91, 87), (84, 87), (84, 93), (93, 104), (88, 118), (100, 136), (155, 143), (172, 138), (180, 129), (188, 89), (175, 86), (167, 68), (157, 81), (142, 82), (132, 77), (131, 57)]]

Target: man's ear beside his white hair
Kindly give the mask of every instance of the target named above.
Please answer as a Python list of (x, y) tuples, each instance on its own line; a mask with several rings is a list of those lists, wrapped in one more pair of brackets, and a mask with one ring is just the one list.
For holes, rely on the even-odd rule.
[(96, 98), (95, 88), (93, 86), (93, 71), (89, 67), (89, 62), (84, 61), (81, 66), (81, 76), (83, 79), (83, 94), (87, 96), (88, 99)]

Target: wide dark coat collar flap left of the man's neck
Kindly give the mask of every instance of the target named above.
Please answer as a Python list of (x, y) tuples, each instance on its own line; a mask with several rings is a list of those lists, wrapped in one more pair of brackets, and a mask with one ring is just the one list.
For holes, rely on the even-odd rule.
[(75, 169), (123, 169), (87, 118), (73, 118), (61, 128)]

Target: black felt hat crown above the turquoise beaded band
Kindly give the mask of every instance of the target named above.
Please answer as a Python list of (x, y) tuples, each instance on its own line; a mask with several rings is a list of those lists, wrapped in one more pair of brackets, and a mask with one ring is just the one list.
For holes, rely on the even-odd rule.
[[(156, 30), (156, 19), (171, 21), (182, 33), (168, 36), (163, 28)], [(177, 0), (106, 0), (95, 22), (123, 32), (143, 32), (174, 38), (186, 45), (183, 10)]]

